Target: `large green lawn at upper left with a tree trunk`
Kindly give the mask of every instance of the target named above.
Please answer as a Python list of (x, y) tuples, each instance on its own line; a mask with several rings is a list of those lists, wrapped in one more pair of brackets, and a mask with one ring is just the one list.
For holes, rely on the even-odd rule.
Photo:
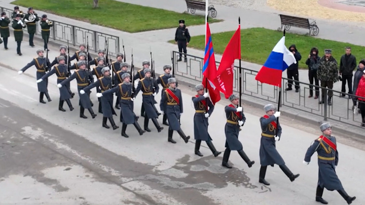
[[(97, 9), (93, 9), (93, 0), (16, 0), (12, 4), (131, 33), (177, 27), (180, 19), (184, 19), (187, 26), (205, 23), (204, 16), (180, 14), (113, 0), (99, 1)], [(222, 20), (210, 18), (209, 21)]]

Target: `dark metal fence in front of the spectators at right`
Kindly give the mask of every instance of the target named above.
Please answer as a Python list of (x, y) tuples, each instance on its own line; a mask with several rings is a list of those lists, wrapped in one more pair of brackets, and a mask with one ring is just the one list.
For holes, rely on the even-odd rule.
[[(172, 58), (174, 62), (175, 74), (189, 80), (194, 81), (194, 83), (199, 84), (202, 82), (202, 67), (204, 58), (193, 56), (187, 54), (188, 62), (179, 63), (177, 58), (179, 58), (179, 52), (173, 51)], [(183, 54), (184, 55), (184, 54)], [(216, 61), (217, 67), (220, 62)], [(242, 95), (251, 96), (257, 99), (269, 101), (272, 103), (278, 102), (279, 89), (276, 86), (271, 86), (268, 84), (262, 84), (260, 81), (255, 80), (255, 76), (258, 71), (251, 70), (248, 68), (242, 69)], [(239, 67), (234, 66), (233, 75), (233, 91), (238, 92), (239, 86)], [(286, 88), (288, 84), (288, 78), (282, 77), (282, 87)], [(317, 116), (321, 116), (323, 120), (332, 119), (340, 122), (344, 122), (348, 125), (359, 126), (361, 122), (361, 115), (353, 113), (353, 100), (354, 95), (349, 95), (347, 93), (342, 93), (335, 90), (330, 90), (326, 88), (321, 88), (313, 85), (313, 94), (315, 94), (315, 88), (319, 89), (320, 94), (323, 92), (332, 91), (332, 105), (327, 103), (327, 95), (324, 95), (323, 104), (319, 104), (322, 100), (319, 95), (318, 99), (308, 98), (310, 89), (309, 84), (303, 83), (301, 81), (293, 80), (299, 83), (300, 91), (299, 93), (293, 91), (285, 91), (282, 89), (281, 106), (286, 106), (301, 110), (307, 113), (311, 113)], [(293, 89), (294, 89), (293, 85)], [(346, 97), (340, 97), (342, 94)], [(314, 96), (314, 95), (313, 95)], [(350, 96), (350, 97), (349, 97)], [(357, 98), (356, 98), (357, 99)], [(358, 104), (358, 102), (357, 102)]]

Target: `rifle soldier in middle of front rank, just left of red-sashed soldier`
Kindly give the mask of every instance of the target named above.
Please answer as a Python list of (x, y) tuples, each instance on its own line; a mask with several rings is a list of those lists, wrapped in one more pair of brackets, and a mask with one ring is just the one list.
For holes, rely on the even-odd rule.
[[(144, 130), (147, 132), (151, 132), (151, 130), (148, 128), (149, 119), (152, 119), (153, 124), (156, 126), (158, 132), (161, 132), (163, 130), (162, 127), (160, 127), (158, 121), (157, 121), (157, 113), (155, 111), (155, 105), (154, 100), (152, 96), (156, 96), (159, 87), (157, 86), (155, 89), (155, 93), (153, 93), (153, 78), (151, 77), (152, 70), (150, 68), (145, 68), (143, 70), (144, 78), (139, 80), (138, 86), (135, 92), (134, 96), (137, 96), (139, 91), (142, 90), (142, 106), (145, 109), (145, 116), (144, 116)], [(154, 82), (156, 84), (156, 81)]]

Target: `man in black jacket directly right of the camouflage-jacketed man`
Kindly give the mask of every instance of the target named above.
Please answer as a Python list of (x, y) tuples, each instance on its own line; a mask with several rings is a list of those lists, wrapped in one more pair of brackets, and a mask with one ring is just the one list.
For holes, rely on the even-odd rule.
[[(346, 54), (340, 60), (340, 75), (342, 76), (341, 92), (346, 93), (346, 81), (349, 89), (349, 94), (352, 94), (352, 72), (356, 68), (356, 57), (351, 54), (351, 47), (346, 47)], [(345, 94), (341, 94), (345, 97)], [(350, 96), (349, 96), (350, 98)]]

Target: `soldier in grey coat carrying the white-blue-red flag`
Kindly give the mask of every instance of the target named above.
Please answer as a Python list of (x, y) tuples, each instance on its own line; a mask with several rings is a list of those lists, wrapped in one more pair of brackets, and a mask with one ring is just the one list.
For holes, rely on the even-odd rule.
[(275, 141), (278, 141), (281, 136), (281, 126), (276, 123), (276, 118), (280, 116), (280, 112), (275, 111), (275, 107), (272, 104), (267, 104), (264, 107), (266, 115), (260, 117), (261, 124), (261, 144), (260, 144), (260, 176), (259, 182), (265, 185), (270, 185), (265, 180), (267, 166), (274, 167), (274, 164), (278, 165), (285, 175), (293, 182), (299, 177), (299, 174), (294, 175), (289, 168), (286, 167), (284, 160), (276, 150)]

